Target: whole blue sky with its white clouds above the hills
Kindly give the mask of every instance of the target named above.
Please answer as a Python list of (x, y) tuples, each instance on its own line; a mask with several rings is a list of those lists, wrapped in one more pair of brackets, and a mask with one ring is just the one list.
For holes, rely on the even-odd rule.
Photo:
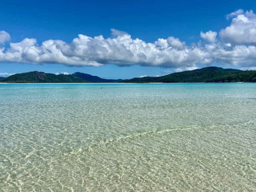
[(0, 76), (44, 71), (107, 79), (208, 66), (256, 70), (256, 2), (0, 2)]

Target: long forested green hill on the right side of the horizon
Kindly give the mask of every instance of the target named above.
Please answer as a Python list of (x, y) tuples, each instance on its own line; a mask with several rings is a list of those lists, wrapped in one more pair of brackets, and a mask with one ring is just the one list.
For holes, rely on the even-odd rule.
[(171, 73), (161, 77), (142, 77), (120, 81), (122, 83), (210, 83), (210, 82), (256, 82), (256, 71), (205, 67), (192, 71)]

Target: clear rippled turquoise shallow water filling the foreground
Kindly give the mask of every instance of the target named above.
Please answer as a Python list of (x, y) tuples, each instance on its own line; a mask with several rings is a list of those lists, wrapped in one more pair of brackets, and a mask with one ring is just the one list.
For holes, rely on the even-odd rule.
[(255, 192), (256, 83), (0, 84), (17, 191)]

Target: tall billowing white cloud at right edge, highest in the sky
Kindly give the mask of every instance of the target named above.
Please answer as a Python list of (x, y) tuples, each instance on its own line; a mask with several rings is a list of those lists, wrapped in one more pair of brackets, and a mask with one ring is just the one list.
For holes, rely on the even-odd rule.
[(256, 45), (256, 14), (252, 10), (238, 14), (219, 35), (223, 41), (232, 44)]

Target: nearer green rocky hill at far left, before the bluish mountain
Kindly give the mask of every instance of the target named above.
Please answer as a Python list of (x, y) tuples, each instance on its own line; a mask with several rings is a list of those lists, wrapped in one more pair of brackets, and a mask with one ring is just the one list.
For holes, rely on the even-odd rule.
[(74, 75), (55, 75), (31, 71), (28, 73), (18, 73), (0, 80), (1, 83), (88, 83), (88, 81)]

